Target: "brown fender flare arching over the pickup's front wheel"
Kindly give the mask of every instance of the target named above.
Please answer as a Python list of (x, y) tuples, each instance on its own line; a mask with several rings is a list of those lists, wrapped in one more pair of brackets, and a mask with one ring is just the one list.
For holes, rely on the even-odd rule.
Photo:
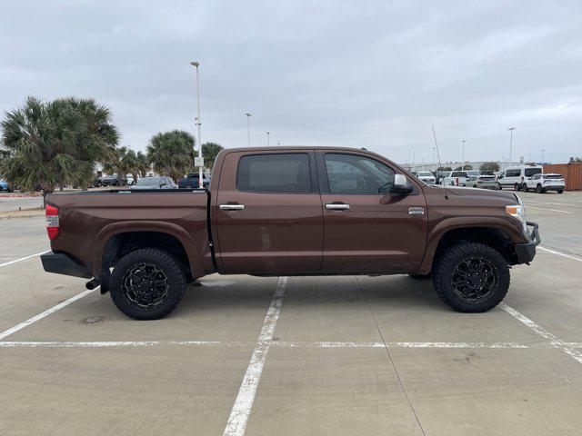
[(426, 237), (426, 250), (418, 273), (426, 274), (430, 272), (434, 262), (435, 253), (437, 253), (438, 243), (443, 236), (455, 229), (462, 229), (467, 227), (480, 227), (499, 230), (514, 241), (515, 243), (527, 242), (525, 236), (521, 233), (513, 223), (509, 223), (503, 218), (496, 218), (491, 216), (459, 216), (447, 218), (435, 225)]

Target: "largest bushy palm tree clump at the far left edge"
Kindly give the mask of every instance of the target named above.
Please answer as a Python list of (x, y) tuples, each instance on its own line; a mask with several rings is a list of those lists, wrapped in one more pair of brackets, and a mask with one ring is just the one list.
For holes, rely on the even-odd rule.
[(0, 127), (6, 155), (0, 173), (29, 191), (40, 186), (43, 196), (58, 185), (87, 188), (95, 163), (108, 161), (118, 141), (109, 109), (94, 99), (29, 97)]

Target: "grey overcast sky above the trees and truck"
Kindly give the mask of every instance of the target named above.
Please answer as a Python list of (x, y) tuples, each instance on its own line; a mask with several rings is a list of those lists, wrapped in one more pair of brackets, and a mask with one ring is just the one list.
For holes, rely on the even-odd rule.
[[(70, 4), (70, 5), (68, 5)], [(366, 147), (396, 162), (582, 155), (582, 2), (8, 2), (0, 109), (92, 96), (121, 144)]]

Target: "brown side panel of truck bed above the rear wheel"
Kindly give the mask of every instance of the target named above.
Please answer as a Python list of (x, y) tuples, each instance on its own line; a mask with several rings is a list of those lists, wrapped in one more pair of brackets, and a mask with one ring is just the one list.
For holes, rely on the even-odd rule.
[(155, 239), (156, 233), (169, 233), (184, 245), (189, 259), (199, 260), (189, 265), (192, 271), (204, 275), (214, 270), (209, 195), (199, 189), (52, 193), (47, 203), (58, 209), (60, 223), (51, 248), (73, 256), (96, 278), (115, 234), (149, 233)]

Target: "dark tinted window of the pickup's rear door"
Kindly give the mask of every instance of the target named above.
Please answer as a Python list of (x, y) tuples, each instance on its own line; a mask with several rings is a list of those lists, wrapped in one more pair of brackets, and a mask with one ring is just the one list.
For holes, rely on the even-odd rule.
[(248, 154), (238, 161), (236, 189), (251, 193), (311, 193), (309, 154)]

